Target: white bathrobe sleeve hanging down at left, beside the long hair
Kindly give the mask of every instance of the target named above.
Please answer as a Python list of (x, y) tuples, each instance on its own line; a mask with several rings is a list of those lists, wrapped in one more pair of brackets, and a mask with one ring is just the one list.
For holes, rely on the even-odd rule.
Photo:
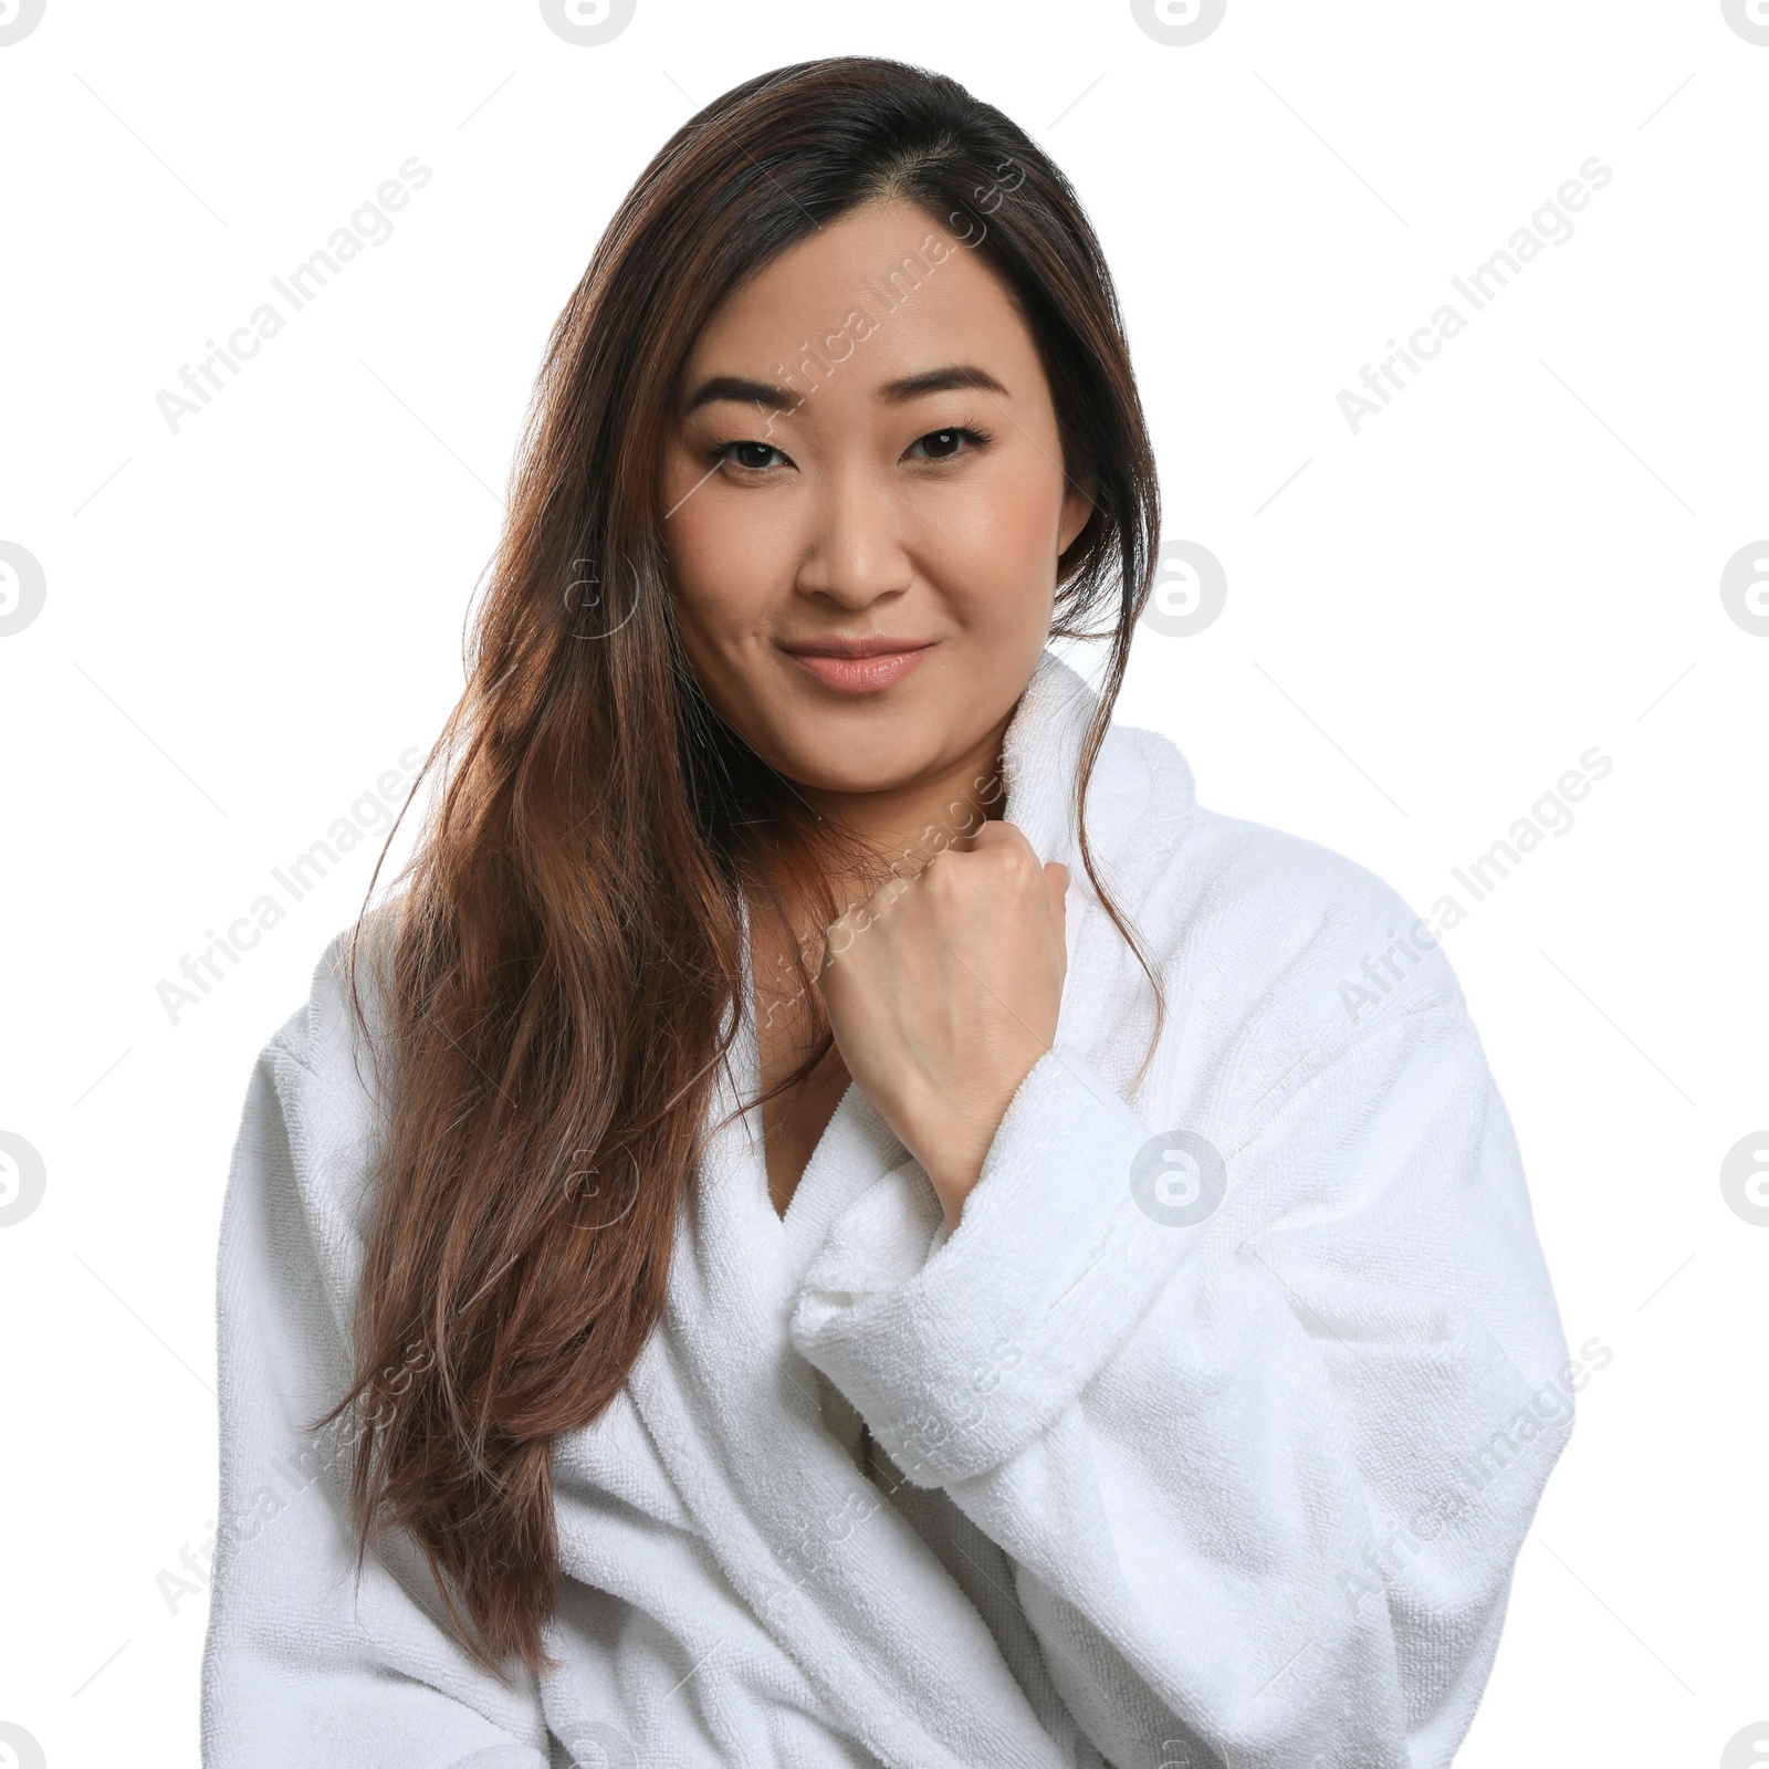
[(405, 1537), (371, 1550), (354, 1589), (348, 1426), (306, 1428), (348, 1385), (338, 1274), (356, 1244), (340, 1192), (359, 1146), (348, 1102), (302, 1061), (304, 1028), (306, 1010), (258, 1058), (221, 1219), (203, 1764), (547, 1769), (532, 1679), (499, 1682), (444, 1633)]

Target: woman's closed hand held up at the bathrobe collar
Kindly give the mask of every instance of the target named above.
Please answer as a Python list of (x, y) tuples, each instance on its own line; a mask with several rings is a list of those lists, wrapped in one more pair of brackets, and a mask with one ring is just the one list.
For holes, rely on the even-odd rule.
[(946, 1226), (1021, 1081), (1056, 1038), (1068, 867), (985, 823), (826, 934), (817, 987), (847, 1074), (934, 1182)]

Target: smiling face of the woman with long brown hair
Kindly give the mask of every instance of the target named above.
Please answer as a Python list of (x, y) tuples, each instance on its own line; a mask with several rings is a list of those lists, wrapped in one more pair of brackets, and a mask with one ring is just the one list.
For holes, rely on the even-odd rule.
[[(660, 513), (701, 690), (823, 793), (984, 755), (1091, 513), (1061, 460), (1037, 345), (975, 251), (902, 202), (793, 246), (701, 334), (667, 449)], [(879, 637), (899, 655), (798, 660)]]

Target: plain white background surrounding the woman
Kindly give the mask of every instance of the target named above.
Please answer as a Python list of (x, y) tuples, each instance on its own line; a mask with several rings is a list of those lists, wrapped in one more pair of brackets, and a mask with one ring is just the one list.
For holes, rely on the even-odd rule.
[[(1168, 534), (1228, 573), (1203, 633), (1139, 630), (1120, 716), (1206, 805), (1429, 909), (1613, 757), (1445, 939), (1567, 1339), (1612, 1352), (1458, 1764), (1719, 1764), (1769, 1714), (1769, 1226), (1719, 1187), (1769, 1125), (1769, 637), (1719, 598), (1769, 534), (1769, 48), (1719, 0), (1229, 0), (1189, 48), (1114, 0), (639, 0), (598, 48), (515, 0), (48, 0), (0, 48), (0, 541), (46, 578), (0, 637), (0, 1130), (46, 1168), (0, 1228), (0, 1721), (50, 1769), (196, 1760), (207, 1594), (159, 1574), (214, 1520), (228, 1155), (379, 842), (177, 1022), (156, 989), (435, 736), (621, 193), (835, 53), (957, 76), (1093, 216)], [(173, 433), (156, 394), (414, 154), (393, 237)], [(1339, 391), (1590, 156), (1573, 237), (1353, 435)]]

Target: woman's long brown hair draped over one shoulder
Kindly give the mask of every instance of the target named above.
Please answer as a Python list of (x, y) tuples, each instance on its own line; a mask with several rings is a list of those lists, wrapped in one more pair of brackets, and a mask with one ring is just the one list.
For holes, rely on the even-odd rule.
[[(720, 301), (877, 198), (916, 203), (1003, 278), (1049, 377), (1065, 471), (1093, 497), (1058, 561), (1051, 628), (1111, 640), (1083, 803), (1148, 594), (1159, 494), (1111, 276), (1074, 189), (1015, 124), (927, 69), (835, 57), (748, 80), (676, 131), (554, 325), (467, 688), (425, 762), (430, 810), (394, 881), (409, 888), (364, 904), (348, 943), (366, 1031), (357, 948), (371, 936), (384, 1139), (354, 1383), (317, 1428), (352, 1408), (357, 1571), (371, 1539), (409, 1530), (492, 1668), (554, 1665), (550, 1440), (614, 1399), (662, 1313), (678, 1203), (750, 987), (743, 904), (778, 907), (789, 877), (826, 904), (821, 925), (842, 909), (821, 881), (854, 844), (695, 686), (656, 485)], [(1155, 982), (1084, 824), (1081, 856)], [(817, 962), (794, 959), (819, 1030), (778, 1088), (833, 1042)], [(1159, 1037), (1159, 982), (1155, 998)]]

